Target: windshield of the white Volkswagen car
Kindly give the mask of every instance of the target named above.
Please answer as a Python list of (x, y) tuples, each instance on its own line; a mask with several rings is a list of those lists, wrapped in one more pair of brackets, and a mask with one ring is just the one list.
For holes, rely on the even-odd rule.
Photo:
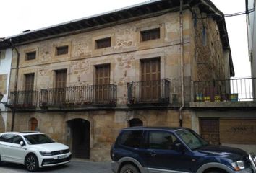
[(43, 144), (43, 143), (54, 143), (54, 141), (46, 136), (45, 134), (33, 134), (33, 135), (25, 135), (27, 143), (30, 145), (35, 144)]

